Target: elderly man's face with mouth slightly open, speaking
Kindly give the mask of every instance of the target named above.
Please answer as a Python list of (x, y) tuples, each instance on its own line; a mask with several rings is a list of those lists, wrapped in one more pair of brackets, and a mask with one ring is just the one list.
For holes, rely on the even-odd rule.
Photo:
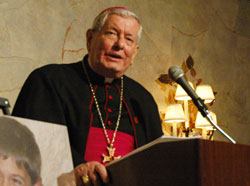
[(105, 77), (120, 78), (139, 49), (139, 23), (132, 17), (108, 16), (100, 31), (87, 32), (90, 66)]

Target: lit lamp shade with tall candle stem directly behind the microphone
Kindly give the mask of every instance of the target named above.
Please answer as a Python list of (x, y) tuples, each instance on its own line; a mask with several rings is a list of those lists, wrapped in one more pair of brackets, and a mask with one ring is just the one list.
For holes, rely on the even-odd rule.
[[(188, 83), (194, 89), (193, 84), (190, 81)], [(184, 101), (185, 128), (188, 129), (189, 128), (188, 100), (191, 100), (191, 97), (188, 96), (186, 91), (179, 84), (177, 85), (175, 99)]]

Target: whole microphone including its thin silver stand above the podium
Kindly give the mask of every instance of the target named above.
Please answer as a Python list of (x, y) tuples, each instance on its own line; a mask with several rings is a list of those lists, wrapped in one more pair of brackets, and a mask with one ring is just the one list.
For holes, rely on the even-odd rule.
[(181, 87), (187, 92), (187, 94), (192, 98), (195, 106), (198, 108), (203, 117), (206, 117), (207, 120), (214, 126), (218, 131), (220, 131), (228, 140), (232, 143), (236, 143), (229, 135), (227, 135), (212, 119), (207, 106), (204, 104), (204, 101), (195, 93), (194, 89), (189, 85), (187, 80), (184, 77), (183, 70), (178, 66), (172, 66), (168, 70), (169, 76), (177, 82)]

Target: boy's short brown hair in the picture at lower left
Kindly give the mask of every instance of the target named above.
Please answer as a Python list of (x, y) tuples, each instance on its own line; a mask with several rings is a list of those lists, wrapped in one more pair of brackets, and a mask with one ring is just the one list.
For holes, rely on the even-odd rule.
[(41, 176), (41, 154), (33, 133), (18, 121), (0, 118), (0, 157), (15, 158), (24, 168), (34, 185)]

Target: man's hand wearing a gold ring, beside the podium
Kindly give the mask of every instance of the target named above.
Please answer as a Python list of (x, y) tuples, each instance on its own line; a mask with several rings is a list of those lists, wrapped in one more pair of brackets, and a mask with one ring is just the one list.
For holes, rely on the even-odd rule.
[(109, 182), (106, 167), (97, 161), (80, 164), (74, 172), (77, 186), (101, 186), (102, 182)]

